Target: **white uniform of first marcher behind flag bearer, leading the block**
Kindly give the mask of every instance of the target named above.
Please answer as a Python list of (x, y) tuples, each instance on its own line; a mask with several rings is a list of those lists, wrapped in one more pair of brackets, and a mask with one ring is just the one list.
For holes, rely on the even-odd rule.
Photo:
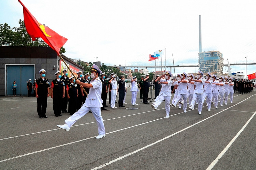
[(171, 96), (172, 96), (172, 80), (165, 80), (165, 79), (160, 79), (160, 82), (168, 82), (168, 84), (161, 84), (161, 91), (159, 93), (159, 95), (156, 97), (155, 99), (155, 103), (153, 103), (153, 105), (155, 105), (156, 107), (158, 107), (163, 100), (165, 100), (165, 110), (166, 110), (166, 116), (169, 116), (170, 114), (170, 101), (171, 101)]

